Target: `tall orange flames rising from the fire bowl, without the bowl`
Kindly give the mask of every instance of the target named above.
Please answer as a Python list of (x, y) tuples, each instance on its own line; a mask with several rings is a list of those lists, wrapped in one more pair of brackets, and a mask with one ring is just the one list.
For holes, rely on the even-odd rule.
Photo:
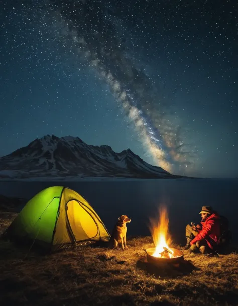
[[(149, 229), (155, 244), (154, 257), (169, 257), (172, 258), (173, 251), (169, 248), (172, 243), (172, 239), (169, 235), (169, 217), (165, 206), (159, 208), (159, 218), (150, 218)], [(172, 254), (166, 253), (166, 256), (161, 255), (164, 251), (164, 247), (167, 248)]]

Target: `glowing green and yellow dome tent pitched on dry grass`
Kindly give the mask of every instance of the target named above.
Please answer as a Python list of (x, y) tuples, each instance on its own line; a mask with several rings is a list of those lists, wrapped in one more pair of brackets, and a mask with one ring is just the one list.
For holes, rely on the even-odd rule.
[(49, 187), (27, 202), (5, 235), (55, 251), (79, 241), (108, 241), (100, 217), (77, 192), (62, 186)]

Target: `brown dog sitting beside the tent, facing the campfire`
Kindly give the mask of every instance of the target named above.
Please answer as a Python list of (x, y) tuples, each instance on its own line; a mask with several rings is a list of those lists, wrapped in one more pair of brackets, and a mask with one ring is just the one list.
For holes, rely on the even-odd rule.
[(118, 218), (118, 221), (116, 222), (114, 229), (112, 231), (112, 235), (110, 237), (109, 246), (114, 247), (117, 249), (119, 247), (119, 244), (121, 243), (122, 248), (124, 250), (124, 243), (125, 243), (125, 249), (127, 249), (127, 226), (126, 223), (131, 222), (131, 219), (128, 218), (126, 215), (122, 215)]

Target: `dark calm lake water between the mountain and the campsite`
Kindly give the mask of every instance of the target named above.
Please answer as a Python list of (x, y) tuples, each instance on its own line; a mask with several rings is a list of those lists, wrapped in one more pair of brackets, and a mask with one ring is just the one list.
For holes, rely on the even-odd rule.
[(229, 218), (233, 241), (238, 242), (237, 179), (132, 180), (85, 182), (0, 182), (0, 194), (30, 199), (44, 188), (64, 185), (80, 193), (96, 210), (111, 232), (117, 218), (128, 215), (129, 236), (149, 235), (148, 218), (160, 204), (168, 208), (170, 233), (183, 243), (187, 223), (199, 222), (203, 205), (211, 205)]

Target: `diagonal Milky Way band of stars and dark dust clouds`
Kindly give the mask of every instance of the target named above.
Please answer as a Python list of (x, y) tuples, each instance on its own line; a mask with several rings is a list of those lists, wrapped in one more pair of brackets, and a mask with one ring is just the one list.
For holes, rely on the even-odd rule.
[(77, 48), (78, 59), (86, 60), (107, 82), (155, 163), (168, 171), (191, 166), (197, 158), (195, 148), (185, 142), (186, 135), (168, 107), (161, 105), (151, 79), (127, 54), (113, 8), (86, 0), (51, 4), (54, 18), (64, 24), (64, 36)]

